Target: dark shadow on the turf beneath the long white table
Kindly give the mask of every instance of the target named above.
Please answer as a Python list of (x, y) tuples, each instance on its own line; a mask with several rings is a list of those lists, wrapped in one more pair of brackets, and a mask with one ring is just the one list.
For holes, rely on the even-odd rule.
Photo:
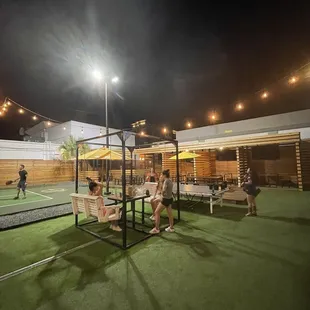
[[(174, 206), (174, 209), (175, 208), (176, 206)], [(212, 216), (215, 218), (221, 218), (224, 220), (230, 220), (230, 221), (235, 221), (235, 222), (241, 221), (247, 212), (245, 207), (235, 207), (235, 206), (228, 206), (228, 205), (223, 205), (221, 207), (219, 205), (215, 205), (213, 206), (213, 214), (210, 214), (209, 204), (201, 203), (201, 202), (188, 203), (187, 201), (184, 201), (184, 200), (180, 201), (180, 209), (181, 209), (181, 212), (182, 211), (191, 212), (194, 214)]]

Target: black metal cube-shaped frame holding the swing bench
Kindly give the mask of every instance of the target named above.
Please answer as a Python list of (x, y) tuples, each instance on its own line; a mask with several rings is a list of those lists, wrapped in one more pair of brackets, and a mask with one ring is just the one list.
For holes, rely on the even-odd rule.
[[(127, 220), (127, 212), (132, 211), (133, 214), (134, 212), (137, 212), (135, 210), (132, 210), (133, 207), (133, 199), (130, 199), (126, 197), (126, 149), (128, 149), (130, 151), (130, 184), (132, 184), (132, 180), (133, 180), (133, 152), (135, 149), (141, 149), (143, 147), (146, 146), (150, 146), (153, 143), (148, 143), (148, 144), (142, 144), (142, 145), (136, 145), (136, 146), (126, 146), (126, 141), (130, 136), (138, 136), (139, 134), (135, 133), (135, 132), (131, 132), (131, 131), (125, 131), (125, 130), (120, 130), (118, 132), (114, 132), (114, 133), (109, 133), (107, 135), (102, 135), (102, 136), (96, 136), (93, 138), (88, 138), (88, 139), (83, 139), (83, 140), (79, 140), (77, 141), (77, 148), (76, 148), (76, 162), (75, 162), (75, 192), (78, 193), (78, 189), (79, 189), (79, 145), (83, 144), (83, 143), (91, 143), (90, 141), (96, 140), (96, 139), (102, 139), (102, 138), (106, 138), (106, 137), (110, 137), (110, 136), (114, 136), (117, 135), (119, 137), (119, 139), (121, 140), (121, 144), (120, 145), (115, 145), (115, 144), (109, 144), (109, 147), (121, 147), (122, 149), (122, 218), (121, 218), (121, 228), (122, 228), (122, 243), (117, 243), (114, 242), (106, 237), (102, 237), (99, 234), (85, 228), (86, 225), (90, 224), (90, 223), (94, 223), (97, 222), (97, 220), (92, 220), (89, 221), (87, 223), (83, 223), (83, 224), (79, 224), (79, 220), (78, 220), (78, 214), (75, 215), (75, 226), (89, 234), (91, 234), (92, 236), (99, 238), (105, 242), (108, 242), (114, 246), (117, 246), (123, 250), (126, 250), (148, 238), (150, 238), (151, 236), (153, 236), (152, 234), (149, 234), (148, 232), (138, 229), (136, 228), (136, 222), (135, 222), (135, 216), (133, 216), (133, 220), (129, 221)], [(177, 176), (177, 180), (179, 180), (179, 145), (178, 145), (178, 141), (174, 140), (174, 139), (162, 139), (160, 137), (155, 137), (155, 136), (150, 136), (150, 135), (144, 135), (143, 138), (148, 138), (148, 139), (153, 139), (157, 142), (162, 142), (163, 144), (173, 144), (175, 146), (175, 151), (176, 151), (176, 176)], [(96, 144), (96, 145), (101, 145), (101, 146), (105, 146), (106, 143), (91, 143), (91, 144)], [(127, 210), (127, 203), (131, 202), (131, 209)], [(177, 194), (176, 194), (176, 205), (177, 205), (177, 218), (174, 219), (175, 223), (179, 222), (181, 220), (181, 212), (180, 212), (180, 191), (179, 191), (179, 182), (177, 182)], [(137, 212), (138, 213), (138, 212)], [(137, 223), (139, 226), (144, 226), (146, 228), (149, 228), (149, 226), (145, 225), (144, 223), (144, 198), (142, 199), (142, 223)], [(128, 223), (132, 222), (132, 225), (128, 225)], [(135, 231), (138, 231), (140, 233), (143, 233), (144, 236), (134, 242), (131, 242), (128, 244), (127, 242), (127, 229), (132, 229)]]

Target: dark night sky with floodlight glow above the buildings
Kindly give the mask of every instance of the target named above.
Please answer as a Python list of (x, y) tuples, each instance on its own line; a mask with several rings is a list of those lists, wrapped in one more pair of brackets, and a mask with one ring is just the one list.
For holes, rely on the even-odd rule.
[[(0, 99), (104, 126), (103, 93), (91, 75), (98, 69), (121, 80), (109, 93), (116, 128), (139, 119), (201, 126), (214, 109), (227, 122), (310, 108), (308, 79), (289, 91), (277, 82), (310, 61), (303, 2), (1, 0)], [(255, 94), (264, 87), (274, 91), (265, 104)], [(11, 111), (0, 119), (0, 138), (31, 125)]]

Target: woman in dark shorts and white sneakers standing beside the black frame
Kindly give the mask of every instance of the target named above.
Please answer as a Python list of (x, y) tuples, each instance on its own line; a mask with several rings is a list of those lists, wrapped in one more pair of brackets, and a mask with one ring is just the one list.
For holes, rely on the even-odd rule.
[(172, 213), (172, 203), (173, 203), (173, 196), (172, 196), (172, 189), (173, 183), (170, 179), (170, 171), (164, 170), (163, 173), (163, 190), (162, 190), (162, 200), (158, 204), (155, 210), (155, 227), (150, 231), (151, 234), (159, 234), (160, 233), (160, 214), (166, 208), (168, 218), (169, 218), (169, 227), (165, 230), (166, 232), (174, 232), (173, 228), (173, 213)]

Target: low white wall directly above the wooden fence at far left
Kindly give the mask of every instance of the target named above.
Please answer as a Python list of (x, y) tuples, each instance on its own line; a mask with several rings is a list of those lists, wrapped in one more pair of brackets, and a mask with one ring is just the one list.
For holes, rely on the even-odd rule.
[(0, 140), (0, 159), (59, 159), (59, 144)]

